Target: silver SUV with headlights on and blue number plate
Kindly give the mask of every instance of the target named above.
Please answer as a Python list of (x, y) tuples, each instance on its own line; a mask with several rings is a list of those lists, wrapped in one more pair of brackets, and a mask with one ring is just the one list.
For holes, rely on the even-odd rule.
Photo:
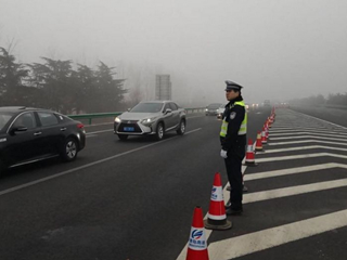
[(184, 108), (171, 101), (140, 102), (115, 118), (114, 133), (120, 140), (127, 140), (129, 135), (145, 134), (153, 134), (162, 140), (171, 130), (182, 135), (185, 132), (185, 114)]

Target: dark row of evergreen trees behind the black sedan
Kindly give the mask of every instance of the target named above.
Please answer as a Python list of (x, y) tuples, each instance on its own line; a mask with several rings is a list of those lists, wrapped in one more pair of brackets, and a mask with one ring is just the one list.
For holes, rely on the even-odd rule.
[[(10, 49), (10, 48), (9, 48)], [(114, 67), (95, 69), (72, 61), (41, 57), (24, 64), (0, 47), (0, 106), (33, 106), (63, 114), (117, 112), (127, 90)]]

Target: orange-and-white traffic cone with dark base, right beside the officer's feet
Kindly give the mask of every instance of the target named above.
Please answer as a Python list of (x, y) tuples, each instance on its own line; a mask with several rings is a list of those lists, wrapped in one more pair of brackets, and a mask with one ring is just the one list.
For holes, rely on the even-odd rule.
[(204, 221), (207, 230), (229, 230), (232, 226), (231, 221), (227, 220), (224, 198), (220, 173), (216, 172), (214, 186), (210, 194), (208, 218)]

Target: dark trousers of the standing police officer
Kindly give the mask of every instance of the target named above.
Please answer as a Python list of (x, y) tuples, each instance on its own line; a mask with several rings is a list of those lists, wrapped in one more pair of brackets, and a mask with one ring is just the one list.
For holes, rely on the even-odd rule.
[(242, 209), (242, 159), (243, 158), (236, 155), (228, 156), (228, 158), (224, 159), (228, 181), (231, 186), (231, 208), (235, 210)]

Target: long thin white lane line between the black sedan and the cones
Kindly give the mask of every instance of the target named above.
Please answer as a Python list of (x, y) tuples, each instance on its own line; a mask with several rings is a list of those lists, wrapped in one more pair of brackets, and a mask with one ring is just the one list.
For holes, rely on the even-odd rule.
[[(200, 131), (200, 130), (202, 130), (202, 128), (194, 129), (192, 131), (185, 132), (184, 134), (190, 134), (190, 133), (193, 133), (193, 132), (196, 132), (196, 131)], [(130, 150), (130, 151), (127, 151), (127, 152), (124, 152), (124, 153), (120, 153), (120, 154), (117, 154), (117, 155), (114, 155), (114, 156), (111, 156), (111, 157), (107, 157), (107, 158), (104, 158), (104, 159), (100, 159), (100, 160), (97, 160), (97, 161), (93, 161), (93, 162), (90, 162), (90, 164), (87, 164), (87, 165), (83, 165), (83, 166), (80, 166), (80, 167), (76, 167), (76, 168), (66, 170), (66, 171), (62, 171), (60, 173), (56, 173), (56, 174), (53, 174), (53, 176), (50, 176), (50, 177), (46, 177), (46, 178), (42, 178), (42, 179), (39, 179), (39, 180), (36, 180), (36, 181), (31, 181), (31, 182), (28, 182), (28, 183), (25, 183), (25, 184), (22, 184), (22, 185), (17, 185), (17, 186), (1, 191), (0, 192), (0, 196), (4, 195), (4, 194), (9, 194), (11, 192), (15, 192), (15, 191), (28, 187), (28, 186), (33, 186), (33, 185), (39, 184), (41, 182), (46, 182), (46, 181), (59, 178), (61, 176), (65, 176), (65, 174), (68, 174), (68, 173), (72, 173), (72, 172), (75, 172), (75, 171), (78, 171), (78, 170), (82, 170), (82, 169), (86, 169), (88, 167), (91, 167), (91, 166), (94, 166), (94, 165), (99, 165), (99, 164), (105, 162), (107, 160), (112, 160), (112, 159), (121, 157), (124, 155), (128, 155), (128, 154), (141, 151), (141, 150), (154, 146), (154, 145), (158, 145), (158, 144), (165, 143), (167, 141), (174, 140), (176, 138), (180, 138), (180, 136), (174, 136), (174, 138), (170, 138), (170, 139), (162, 140), (160, 142), (155, 142), (155, 143), (151, 143), (151, 144), (147, 144), (147, 145), (143, 145), (141, 147), (138, 147), (138, 148), (134, 148), (134, 150)]]

